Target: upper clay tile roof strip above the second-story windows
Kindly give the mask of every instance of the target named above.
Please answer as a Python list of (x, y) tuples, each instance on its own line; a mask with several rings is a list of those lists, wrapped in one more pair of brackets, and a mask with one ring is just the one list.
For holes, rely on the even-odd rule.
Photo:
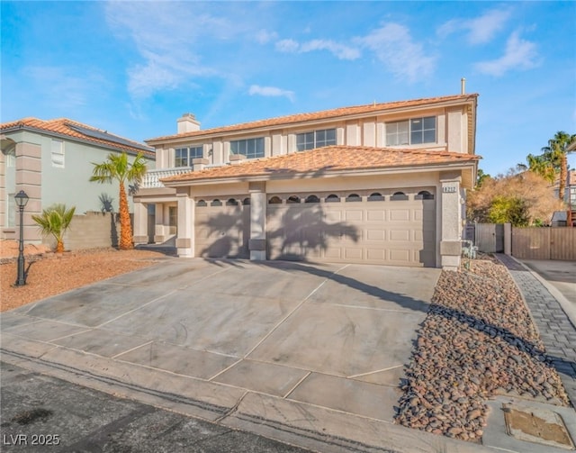
[(231, 131), (249, 131), (251, 129), (269, 128), (274, 126), (282, 126), (284, 124), (293, 124), (297, 122), (317, 121), (330, 118), (346, 117), (360, 113), (381, 113), (390, 110), (417, 107), (426, 104), (438, 104), (451, 101), (466, 101), (476, 99), (478, 95), (449, 95), (428, 97), (423, 99), (412, 99), (410, 101), (399, 101), (391, 103), (374, 103), (365, 105), (356, 105), (352, 107), (341, 107), (337, 109), (324, 110), (321, 112), (313, 113), (296, 113), (287, 116), (279, 116), (277, 118), (269, 118), (267, 120), (260, 120), (255, 122), (243, 122), (241, 124), (233, 124), (230, 126), (216, 127), (205, 129), (203, 131), (184, 132), (180, 134), (166, 135), (164, 137), (157, 137), (154, 139), (145, 140), (147, 142), (156, 142), (162, 140), (181, 139), (185, 137), (202, 137), (204, 135), (211, 135), (215, 133), (231, 132)]

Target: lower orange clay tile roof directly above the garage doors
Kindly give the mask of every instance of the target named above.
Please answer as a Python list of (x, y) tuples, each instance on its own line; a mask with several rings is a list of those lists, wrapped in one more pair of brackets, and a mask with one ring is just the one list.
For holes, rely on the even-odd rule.
[(290, 177), (294, 174), (320, 176), (326, 172), (383, 168), (414, 168), (442, 164), (473, 163), (477, 155), (425, 149), (386, 149), (356, 146), (327, 146), (273, 158), (245, 160), (236, 165), (205, 168), (166, 177), (163, 183), (210, 181), (243, 177)]

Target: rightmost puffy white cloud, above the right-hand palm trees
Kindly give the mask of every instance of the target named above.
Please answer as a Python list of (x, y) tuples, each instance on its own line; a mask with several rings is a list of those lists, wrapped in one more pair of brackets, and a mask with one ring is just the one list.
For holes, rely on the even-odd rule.
[(538, 51), (534, 42), (522, 40), (518, 32), (513, 32), (506, 43), (506, 50), (500, 59), (481, 61), (474, 68), (483, 74), (500, 77), (509, 70), (526, 70), (539, 66)]

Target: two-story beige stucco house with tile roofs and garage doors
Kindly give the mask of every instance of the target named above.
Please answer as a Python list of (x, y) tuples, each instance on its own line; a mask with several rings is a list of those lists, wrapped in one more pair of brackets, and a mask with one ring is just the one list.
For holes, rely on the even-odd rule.
[(146, 140), (134, 241), (181, 257), (455, 268), (476, 179), (478, 95), (294, 114)]

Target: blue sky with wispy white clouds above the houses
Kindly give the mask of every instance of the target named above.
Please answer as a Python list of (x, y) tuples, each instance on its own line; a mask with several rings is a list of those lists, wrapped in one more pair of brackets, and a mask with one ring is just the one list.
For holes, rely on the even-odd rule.
[[(481, 168), (576, 133), (576, 2), (6, 2), (0, 121), (145, 140), (291, 113), (478, 93)], [(576, 157), (570, 158), (572, 168)]]

